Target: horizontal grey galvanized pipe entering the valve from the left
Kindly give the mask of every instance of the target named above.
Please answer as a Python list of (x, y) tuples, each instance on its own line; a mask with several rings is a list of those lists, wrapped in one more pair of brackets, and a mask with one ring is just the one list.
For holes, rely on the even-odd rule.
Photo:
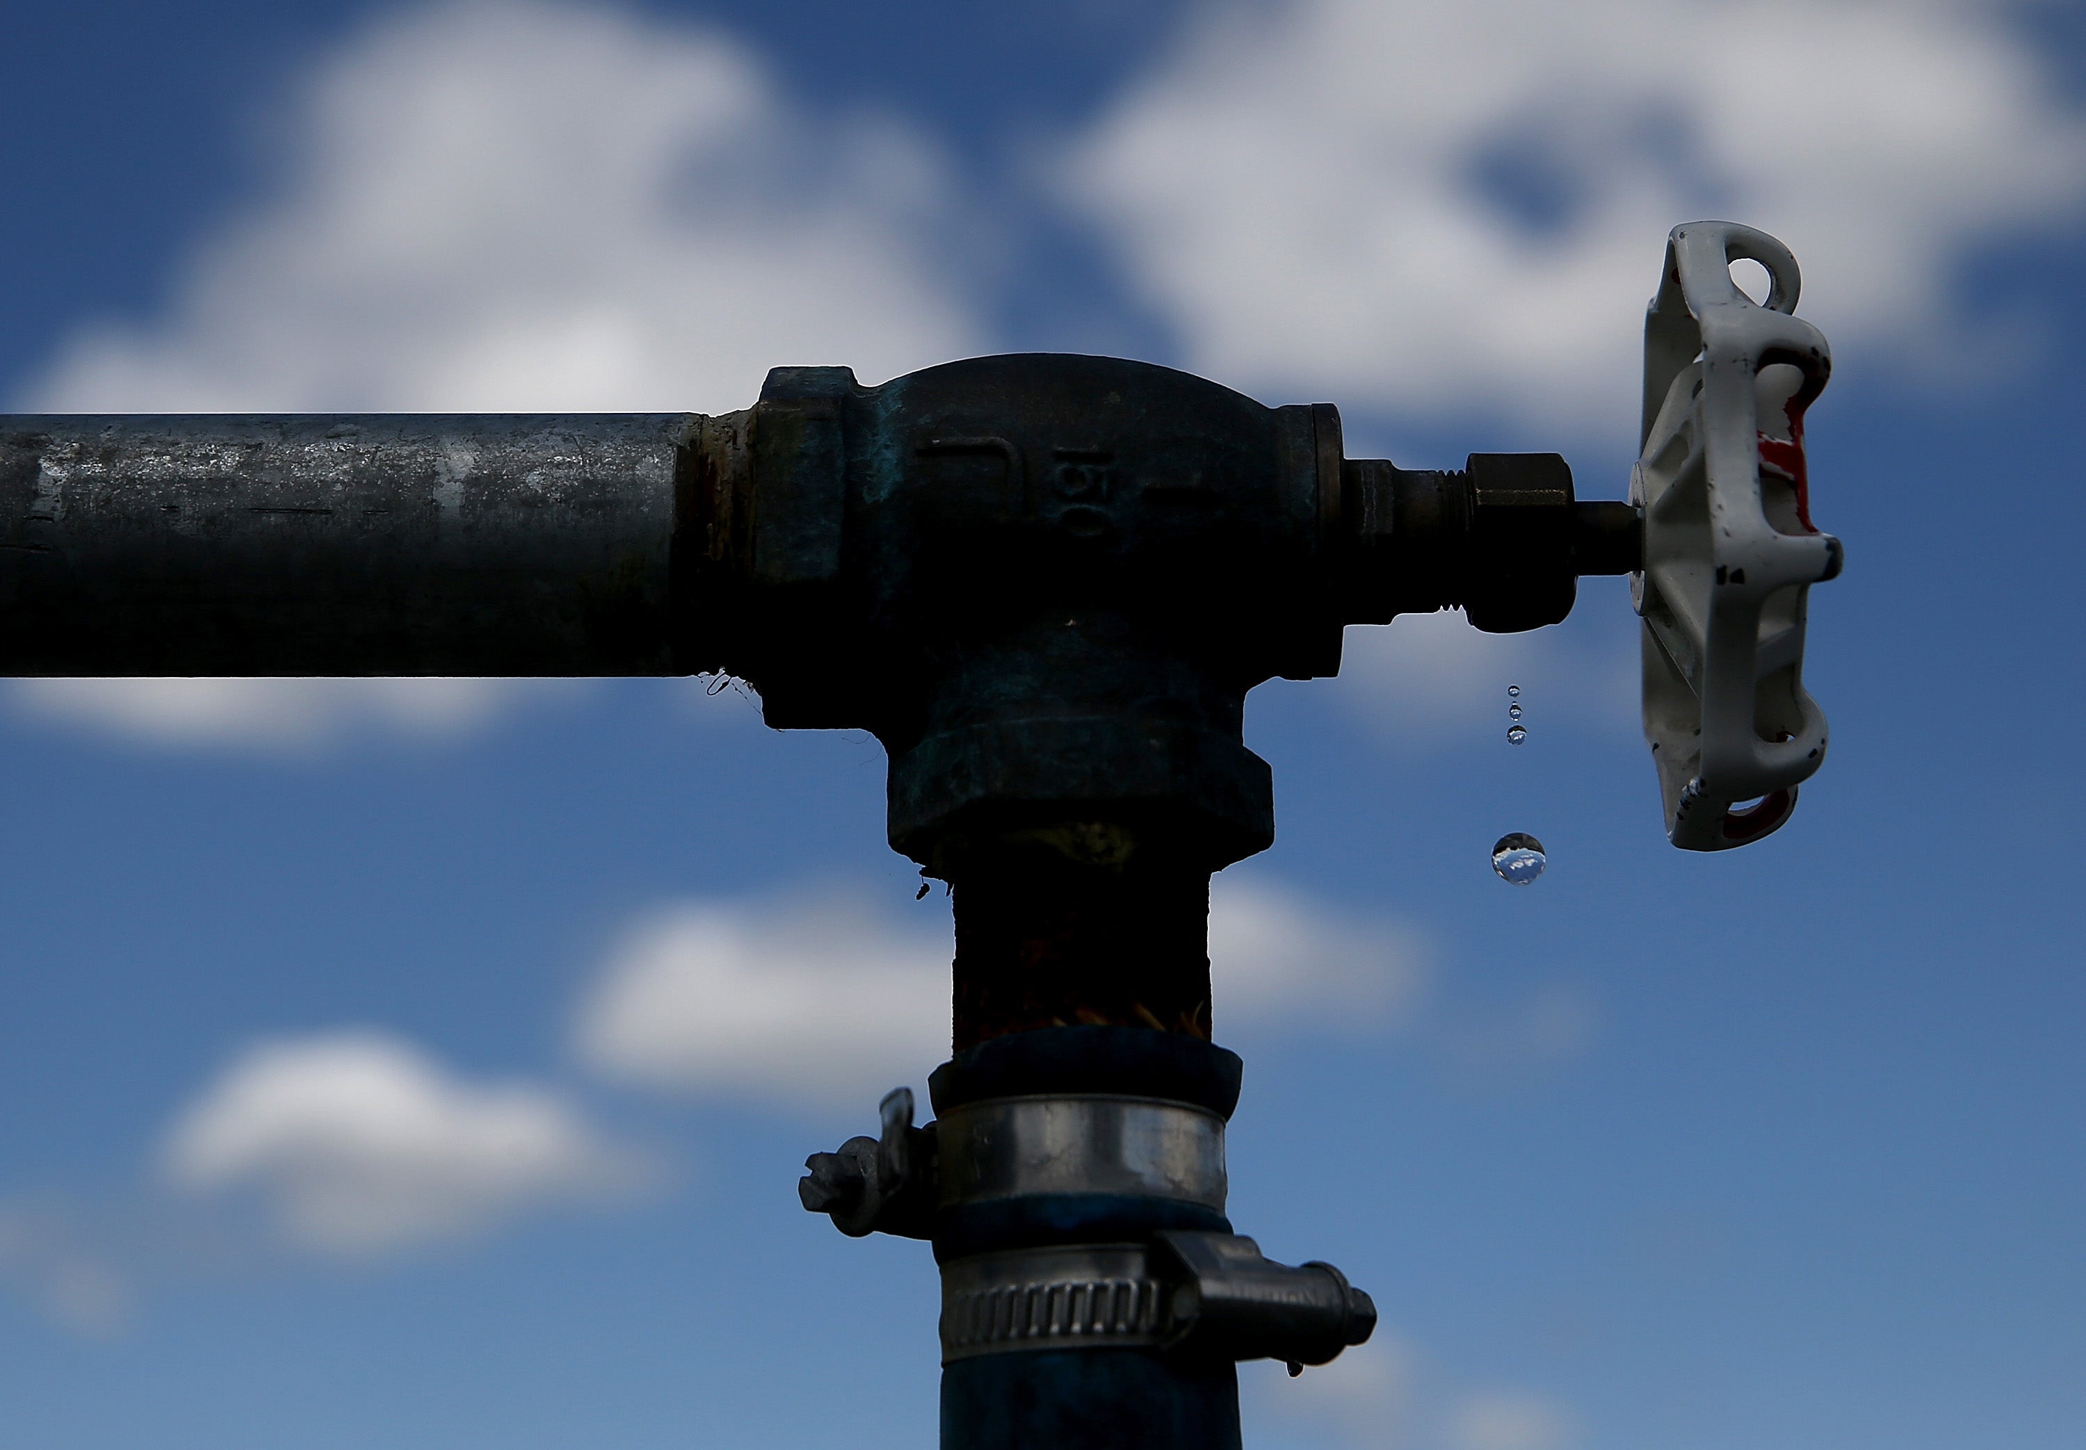
[(0, 674), (693, 672), (703, 421), (0, 417)]

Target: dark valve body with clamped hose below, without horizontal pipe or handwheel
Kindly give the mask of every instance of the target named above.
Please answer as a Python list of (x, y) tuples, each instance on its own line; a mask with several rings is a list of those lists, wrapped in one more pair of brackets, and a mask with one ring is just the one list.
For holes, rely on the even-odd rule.
[(1224, 1216), (1210, 874), (1275, 837), (1245, 693), (1333, 674), (1350, 622), (1562, 618), (1635, 515), (1577, 505), (1554, 455), (1348, 461), (1331, 407), (1114, 359), (786, 369), (743, 428), (705, 430), (715, 666), (770, 724), (876, 732), (891, 845), (955, 899), (939, 1118), (887, 1099), (805, 1204), (932, 1239), (945, 1450), (1235, 1446), (1235, 1360), (1375, 1325)]

